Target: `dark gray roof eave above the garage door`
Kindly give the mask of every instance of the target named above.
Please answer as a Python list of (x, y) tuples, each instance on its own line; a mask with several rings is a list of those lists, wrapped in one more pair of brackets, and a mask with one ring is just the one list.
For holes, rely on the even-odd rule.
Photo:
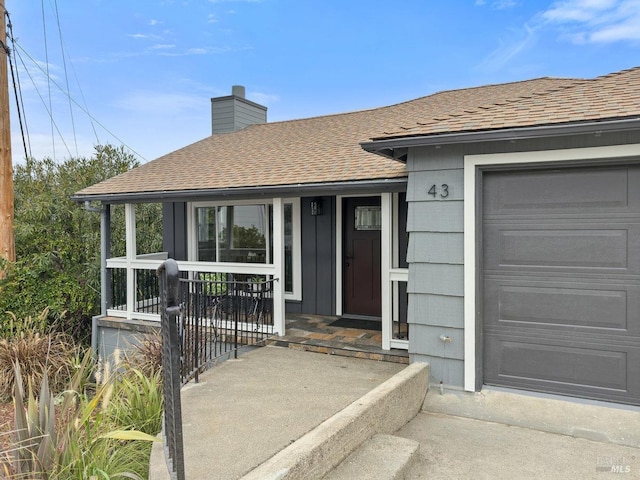
[(472, 132), (452, 132), (411, 137), (382, 138), (379, 140), (362, 142), (360, 143), (360, 146), (367, 152), (376, 153), (387, 158), (405, 162), (407, 151), (411, 147), (513, 141), (566, 135), (601, 134), (637, 129), (640, 129), (640, 117), (596, 122), (504, 128), (499, 130), (478, 130)]

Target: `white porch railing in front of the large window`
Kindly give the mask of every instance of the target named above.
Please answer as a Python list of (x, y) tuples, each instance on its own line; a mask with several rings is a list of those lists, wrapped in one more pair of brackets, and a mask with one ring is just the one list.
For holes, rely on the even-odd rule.
[[(168, 258), (166, 252), (137, 255), (135, 259), (114, 257), (107, 259), (111, 283), (110, 307), (112, 317), (160, 321), (158, 267)], [(178, 261), (178, 268), (186, 278), (199, 279), (202, 274), (240, 275), (245, 278), (274, 278), (274, 300), (284, 294), (276, 277), (276, 268), (270, 264), (241, 264)], [(278, 308), (284, 302), (274, 301), (274, 331), (284, 334), (284, 310)]]

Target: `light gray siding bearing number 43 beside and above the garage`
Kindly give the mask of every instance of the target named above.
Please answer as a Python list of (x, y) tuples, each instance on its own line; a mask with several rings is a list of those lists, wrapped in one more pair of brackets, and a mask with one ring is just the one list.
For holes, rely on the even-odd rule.
[[(432, 384), (442, 382), (462, 388), (464, 380), (464, 156), (629, 143), (640, 143), (640, 134), (576, 135), (410, 149), (407, 160), (409, 353), (411, 361), (431, 364)], [(430, 194), (433, 185), (436, 187)], [(442, 336), (451, 341), (441, 340)]]

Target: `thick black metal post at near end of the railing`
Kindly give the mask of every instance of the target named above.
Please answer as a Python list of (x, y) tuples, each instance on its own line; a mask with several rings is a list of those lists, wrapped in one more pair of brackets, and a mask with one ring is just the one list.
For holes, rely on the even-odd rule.
[(180, 277), (178, 264), (165, 260), (158, 267), (162, 320), (162, 390), (164, 421), (162, 436), (165, 459), (172, 480), (184, 480), (184, 445), (182, 440), (182, 406), (180, 403)]

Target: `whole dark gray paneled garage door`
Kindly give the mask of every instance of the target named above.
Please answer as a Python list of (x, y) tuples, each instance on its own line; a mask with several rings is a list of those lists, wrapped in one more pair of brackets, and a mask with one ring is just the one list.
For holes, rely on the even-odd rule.
[(640, 404), (640, 166), (485, 172), (483, 381)]

